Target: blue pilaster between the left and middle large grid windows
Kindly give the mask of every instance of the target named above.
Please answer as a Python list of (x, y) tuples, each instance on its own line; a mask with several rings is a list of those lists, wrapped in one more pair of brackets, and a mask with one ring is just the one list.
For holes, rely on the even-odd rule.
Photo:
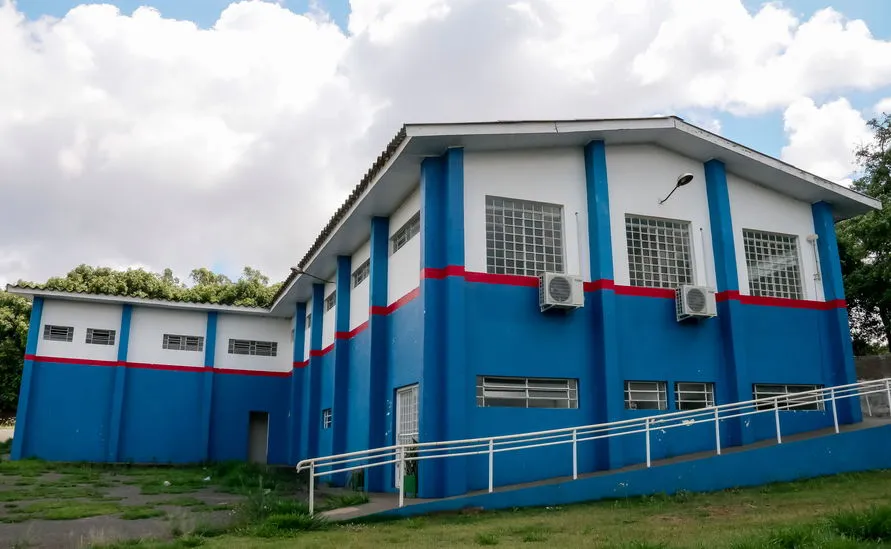
[[(593, 315), (592, 345), (594, 361), (591, 364), (596, 386), (588, 398), (579, 398), (579, 405), (588, 408), (591, 423), (617, 421), (624, 416), (624, 381), (619, 364), (618, 335), (613, 319), (616, 318), (616, 294), (613, 290), (613, 249), (610, 232), (609, 179), (606, 169), (606, 145), (592, 141), (585, 146), (585, 186), (588, 207), (588, 240), (590, 251), (591, 281), (600, 291), (589, 294), (590, 314)], [(613, 469), (622, 466), (622, 441), (605, 439), (598, 441), (597, 469)]]

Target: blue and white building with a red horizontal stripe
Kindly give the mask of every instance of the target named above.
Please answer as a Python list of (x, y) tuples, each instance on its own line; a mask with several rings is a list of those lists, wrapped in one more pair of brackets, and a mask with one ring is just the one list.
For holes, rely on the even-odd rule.
[[(675, 117), (407, 125), (268, 310), (10, 287), (34, 299), (13, 457), (294, 464), (850, 383), (834, 223), (878, 207)], [(540, 273), (575, 306), (543, 310)], [(657, 433), (653, 457), (713, 429)], [(496, 483), (568, 474), (558, 451), (499, 456)], [(599, 441), (579, 468), (643, 452)], [(420, 494), (484, 487), (477, 457), (423, 465)]]

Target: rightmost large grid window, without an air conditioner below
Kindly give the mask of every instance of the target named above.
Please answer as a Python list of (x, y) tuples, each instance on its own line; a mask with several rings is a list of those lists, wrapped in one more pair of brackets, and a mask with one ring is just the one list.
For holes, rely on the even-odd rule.
[(743, 244), (750, 294), (801, 299), (798, 237), (745, 229)]

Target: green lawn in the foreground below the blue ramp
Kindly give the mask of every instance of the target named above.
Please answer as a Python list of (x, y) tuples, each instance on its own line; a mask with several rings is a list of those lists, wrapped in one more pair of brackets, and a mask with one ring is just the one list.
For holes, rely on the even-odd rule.
[[(259, 502), (257, 508), (268, 507)], [(229, 533), (108, 547), (374, 548), (891, 547), (891, 471), (709, 494), (629, 498), (557, 508), (324, 524), (299, 506), (258, 512)], [(317, 531), (308, 531), (315, 530)]]

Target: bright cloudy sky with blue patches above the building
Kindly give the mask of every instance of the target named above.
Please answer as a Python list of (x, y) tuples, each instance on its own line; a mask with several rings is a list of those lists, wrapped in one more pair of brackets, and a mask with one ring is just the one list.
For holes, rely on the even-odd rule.
[(0, 0), (0, 287), (283, 279), (403, 123), (674, 114), (842, 184), (878, 0)]

